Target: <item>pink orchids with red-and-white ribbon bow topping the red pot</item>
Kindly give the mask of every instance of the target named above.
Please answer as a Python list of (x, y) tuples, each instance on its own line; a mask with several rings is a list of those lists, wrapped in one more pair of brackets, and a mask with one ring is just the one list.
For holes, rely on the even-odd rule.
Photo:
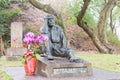
[[(22, 63), (27, 62), (31, 58), (40, 59), (39, 52), (42, 52), (40, 49), (41, 45), (46, 46), (46, 41), (48, 37), (44, 34), (41, 34), (35, 38), (33, 32), (28, 32), (24, 35), (23, 42), (27, 44), (27, 52), (24, 53), (22, 57)], [(25, 47), (25, 45), (24, 45)]]

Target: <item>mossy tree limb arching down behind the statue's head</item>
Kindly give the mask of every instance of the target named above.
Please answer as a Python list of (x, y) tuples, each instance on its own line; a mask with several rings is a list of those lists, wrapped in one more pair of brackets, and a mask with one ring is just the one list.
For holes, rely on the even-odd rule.
[(46, 13), (50, 13), (50, 14), (54, 15), (57, 18), (57, 19), (55, 19), (56, 20), (55, 22), (64, 29), (63, 19), (62, 19), (60, 12), (53, 9), (50, 5), (42, 4), (42, 3), (38, 2), (37, 0), (29, 0), (29, 2), (36, 8), (43, 10)]

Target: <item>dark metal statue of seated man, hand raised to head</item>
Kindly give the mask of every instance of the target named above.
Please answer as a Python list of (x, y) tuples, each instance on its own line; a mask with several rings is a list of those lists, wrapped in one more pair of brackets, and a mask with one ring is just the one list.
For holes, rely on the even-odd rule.
[(55, 25), (54, 17), (48, 14), (44, 18), (44, 25), (41, 27), (41, 34), (48, 36), (46, 46), (42, 50), (48, 60), (53, 60), (53, 56), (67, 57), (70, 62), (83, 62), (82, 59), (74, 56), (73, 50), (66, 48), (66, 37), (61, 27)]

